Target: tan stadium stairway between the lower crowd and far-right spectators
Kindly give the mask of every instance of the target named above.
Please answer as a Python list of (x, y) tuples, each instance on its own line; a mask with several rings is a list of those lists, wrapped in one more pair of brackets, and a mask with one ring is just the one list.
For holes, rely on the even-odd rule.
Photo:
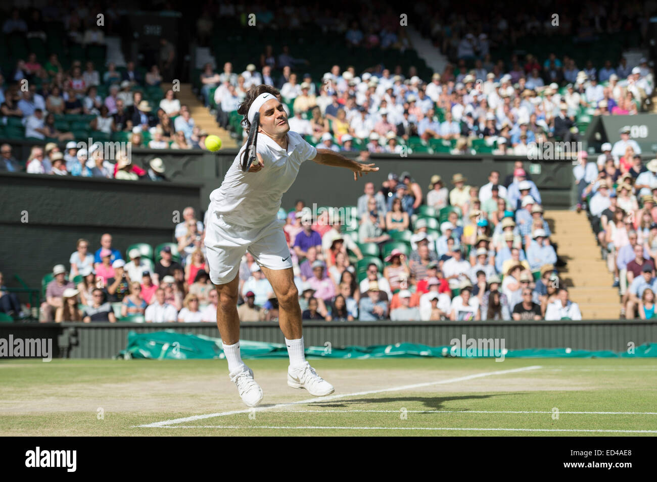
[(612, 288), (614, 277), (600, 256), (600, 247), (585, 212), (545, 211), (558, 244), (559, 256), (568, 262), (559, 277), (570, 299), (579, 304), (583, 319), (618, 319), (620, 298)]

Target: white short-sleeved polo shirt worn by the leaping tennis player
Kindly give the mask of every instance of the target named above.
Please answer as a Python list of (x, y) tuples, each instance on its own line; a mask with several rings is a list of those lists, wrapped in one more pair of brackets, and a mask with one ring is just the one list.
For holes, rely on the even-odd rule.
[(260, 172), (242, 172), (240, 149), (218, 189), (210, 194), (211, 209), (229, 224), (262, 228), (276, 219), (281, 199), (296, 180), (301, 164), (315, 159), (317, 149), (296, 132), (288, 132), (288, 148), (266, 134), (258, 134), (256, 151), (262, 156)]

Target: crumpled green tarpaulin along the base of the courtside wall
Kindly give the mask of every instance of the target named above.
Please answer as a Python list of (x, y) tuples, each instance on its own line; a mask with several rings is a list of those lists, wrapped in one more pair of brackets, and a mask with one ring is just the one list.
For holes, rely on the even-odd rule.
[[(118, 358), (149, 359), (213, 359), (223, 358), (221, 339), (198, 334), (183, 334), (173, 330), (150, 333), (129, 332), (127, 348), (118, 353)], [(282, 343), (250, 342), (240, 340), (243, 359), (276, 358), (288, 356)], [(457, 348), (455, 346), (426, 346), (416, 343), (396, 343), (394, 345), (310, 346), (306, 357), (313, 358), (386, 358), (386, 357), (574, 357), (574, 358), (612, 358), (612, 357), (657, 357), (657, 344), (647, 343), (627, 351), (587, 351), (570, 348), (531, 348), (528, 350), (494, 350), (490, 348)]]

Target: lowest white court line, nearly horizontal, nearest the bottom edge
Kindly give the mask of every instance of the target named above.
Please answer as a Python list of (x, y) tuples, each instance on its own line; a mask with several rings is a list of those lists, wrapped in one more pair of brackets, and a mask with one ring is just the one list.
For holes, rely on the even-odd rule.
[[(152, 427), (142, 425), (141, 427)], [(170, 425), (162, 428), (270, 428), (270, 429), (290, 429), (290, 430), (453, 430), (453, 431), (470, 431), (470, 432), (595, 432), (595, 433), (657, 433), (657, 430), (592, 430), (578, 428), (461, 428), (461, 427), (274, 427), (269, 425), (260, 426), (239, 426), (239, 425)]]

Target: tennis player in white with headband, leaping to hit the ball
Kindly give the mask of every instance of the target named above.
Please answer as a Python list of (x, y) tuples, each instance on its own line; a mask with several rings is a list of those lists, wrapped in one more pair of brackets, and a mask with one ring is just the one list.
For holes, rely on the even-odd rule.
[[(290, 132), (287, 115), (278, 90), (267, 85), (252, 87), (238, 113), (247, 131), (256, 129), (256, 161), (242, 171), (244, 144), (226, 172), (221, 186), (210, 195), (210, 216), (205, 237), (210, 279), (219, 293), (217, 327), (223, 341), (231, 380), (242, 401), (255, 407), (262, 390), (253, 372), (240, 357), (240, 320), (237, 315), (238, 271), (248, 250), (271, 283), (279, 302), (279, 325), (285, 336), (290, 366), (288, 386), (305, 388), (311, 395), (333, 392), (304, 356), (301, 310), (294, 285), (290, 249), (283, 233), (284, 221), (277, 218), (281, 198), (296, 179), (301, 164), (310, 159), (317, 164), (344, 167), (354, 180), (378, 171), (374, 164), (351, 161), (334, 151), (315, 149), (300, 134)], [(260, 114), (253, 125), (254, 115)]]

